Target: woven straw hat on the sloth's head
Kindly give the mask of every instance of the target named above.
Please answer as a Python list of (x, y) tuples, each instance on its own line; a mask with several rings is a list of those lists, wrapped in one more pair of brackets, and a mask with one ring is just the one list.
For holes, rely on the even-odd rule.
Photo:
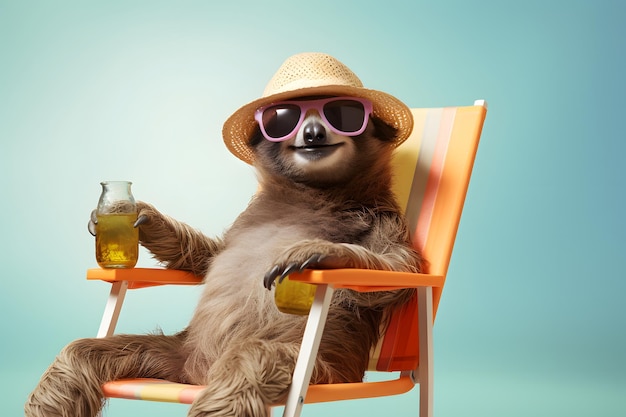
[(409, 108), (397, 98), (382, 91), (369, 90), (348, 67), (330, 55), (302, 53), (288, 58), (265, 87), (261, 98), (241, 107), (224, 123), (222, 136), (226, 147), (239, 159), (251, 164), (254, 154), (250, 141), (257, 122), (254, 112), (273, 102), (311, 95), (352, 96), (366, 98), (373, 104), (374, 116), (397, 129), (396, 146), (404, 142), (413, 129)]

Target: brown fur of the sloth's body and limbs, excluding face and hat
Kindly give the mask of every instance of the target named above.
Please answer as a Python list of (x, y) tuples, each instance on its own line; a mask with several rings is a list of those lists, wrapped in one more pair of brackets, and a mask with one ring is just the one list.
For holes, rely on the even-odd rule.
[[(100, 386), (154, 377), (206, 384), (189, 416), (265, 416), (291, 383), (305, 317), (280, 313), (263, 287), (268, 271), (373, 268), (419, 271), (390, 190), (389, 127), (373, 120), (349, 138), (332, 172), (292, 164), (286, 142), (254, 138), (261, 191), (223, 239), (210, 239), (140, 203), (141, 243), (168, 268), (206, 276), (183, 332), (116, 335), (68, 345), (30, 395), (27, 417), (93, 417)], [(344, 150), (342, 150), (344, 152)], [(350, 153), (352, 152), (352, 153)], [(273, 279), (273, 274), (271, 279)], [(312, 382), (360, 381), (386, 313), (412, 292), (336, 291)]]

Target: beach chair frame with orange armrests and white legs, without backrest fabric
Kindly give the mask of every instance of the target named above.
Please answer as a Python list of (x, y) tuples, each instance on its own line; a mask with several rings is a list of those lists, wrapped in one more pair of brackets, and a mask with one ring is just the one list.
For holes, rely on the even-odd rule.
[[(476, 100), (474, 106), (482, 107), (482, 120), (477, 134), (474, 153), (482, 130), (482, 123), (486, 115), (487, 105), (484, 100)], [(467, 172), (467, 183), (473, 165)], [(461, 208), (465, 194), (460, 196)], [(460, 214), (459, 214), (460, 218)], [(452, 226), (454, 234), (458, 223)], [(413, 274), (393, 271), (374, 271), (360, 269), (337, 269), (337, 270), (306, 270), (302, 273), (290, 275), (294, 281), (308, 282), (317, 285), (315, 298), (311, 307), (306, 328), (304, 331), (300, 353), (296, 362), (292, 384), (287, 396), (284, 417), (297, 417), (302, 412), (304, 403), (336, 401), (342, 399), (370, 398), (387, 395), (401, 394), (420, 385), (419, 391), (419, 415), (420, 417), (432, 417), (433, 415), (433, 323), (439, 303), (439, 297), (447, 274), (447, 264), (451, 255), (452, 246), (449, 247), (447, 261), (440, 274)], [(384, 278), (380, 278), (384, 275)], [(102, 280), (112, 284), (111, 291), (105, 305), (104, 313), (97, 333), (97, 337), (113, 335), (119, 318), (119, 314), (128, 289), (144, 288), (158, 285), (198, 285), (202, 278), (196, 277), (190, 272), (155, 269), (89, 269), (87, 279)], [(384, 283), (384, 284), (380, 284)], [(351, 288), (357, 291), (381, 291), (402, 288), (415, 288), (417, 293), (417, 337), (419, 347), (419, 365), (413, 370), (403, 370), (397, 379), (382, 382), (361, 382), (349, 384), (309, 385), (311, 373), (315, 364), (315, 358), (319, 348), (322, 333), (329, 311), (330, 302), (335, 289)], [(104, 386), (105, 395), (118, 396), (113, 386)], [(182, 385), (182, 384), (180, 384)], [(197, 391), (202, 387), (197, 387)], [(195, 392), (195, 391), (194, 391)], [(155, 399), (159, 401), (159, 399)], [(163, 400), (161, 400), (163, 401)], [(192, 399), (184, 401), (191, 403)], [(183, 401), (177, 401), (183, 402)]]

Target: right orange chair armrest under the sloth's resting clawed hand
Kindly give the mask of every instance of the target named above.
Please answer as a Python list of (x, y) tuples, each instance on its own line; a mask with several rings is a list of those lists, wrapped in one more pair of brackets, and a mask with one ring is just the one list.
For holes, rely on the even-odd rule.
[(445, 276), (375, 269), (311, 269), (292, 273), (289, 279), (310, 284), (330, 284), (359, 292), (389, 291), (401, 288), (443, 287)]

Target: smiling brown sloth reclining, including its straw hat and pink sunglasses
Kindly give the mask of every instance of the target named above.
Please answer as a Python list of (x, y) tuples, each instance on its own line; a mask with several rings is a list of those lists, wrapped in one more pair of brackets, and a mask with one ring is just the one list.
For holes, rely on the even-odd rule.
[[(224, 125), (228, 148), (255, 167), (259, 191), (222, 237), (138, 202), (140, 243), (165, 267), (205, 277), (189, 325), (70, 343), (25, 415), (96, 416), (101, 385), (121, 378), (206, 385), (189, 416), (269, 415), (286, 398), (306, 324), (277, 309), (276, 281), (307, 268), (423, 268), (391, 190), (392, 154), (411, 127), (404, 104), (364, 89), (336, 59), (288, 59), (264, 96)], [(389, 313), (412, 296), (335, 291), (311, 383), (361, 381)]]

